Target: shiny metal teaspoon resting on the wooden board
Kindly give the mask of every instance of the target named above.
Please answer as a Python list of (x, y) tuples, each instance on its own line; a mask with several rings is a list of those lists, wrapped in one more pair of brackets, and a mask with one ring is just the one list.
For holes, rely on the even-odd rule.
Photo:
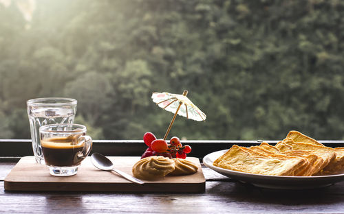
[(98, 169), (104, 170), (104, 171), (115, 171), (117, 174), (122, 176), (123, 178), (130, 180), (131, 182), (136, 182), (139, 185), (144, 184), (142, 180), (139, 180), (138, 178), (134, 178), (133, 176), (130, 176), (129, 174), (126, 174), (123, 171), (120, 171), (118, 169), (114, 169), (114, 163), (111, 162), (111, 160), (103, 154), (94, 153), (91, 156), (91, 162), (92, 164), (97, 167)]

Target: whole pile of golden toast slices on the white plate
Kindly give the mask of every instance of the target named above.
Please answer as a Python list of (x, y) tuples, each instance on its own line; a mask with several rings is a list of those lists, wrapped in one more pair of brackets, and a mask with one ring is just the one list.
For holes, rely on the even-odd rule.
[(272, 176), (321, 176), (344, 173), (344, 147), (331, 148), (297, 131), (273, 146), (233, 145), (213, 165)]

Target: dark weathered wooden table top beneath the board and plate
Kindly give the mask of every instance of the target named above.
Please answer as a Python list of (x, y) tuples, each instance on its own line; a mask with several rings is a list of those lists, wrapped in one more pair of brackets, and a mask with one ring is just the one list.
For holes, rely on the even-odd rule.
[(244, 185), (203, 167), (204, 193), (10, 192), (0, 159), (0, 213), (344, 213), (344, 182), (303, 191)]

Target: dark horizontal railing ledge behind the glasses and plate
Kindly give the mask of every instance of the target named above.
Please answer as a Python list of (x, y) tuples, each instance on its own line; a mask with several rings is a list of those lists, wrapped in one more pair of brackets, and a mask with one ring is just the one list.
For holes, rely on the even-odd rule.
[[(191, 145), (190, 156), (203, 158), (206, 154), (218, 150), (227, 150), (232, 145), (259, 145), (263, 141), (232, 141), (232, 140), (187, 140), (183, 145)], [(275, 145), (279, 141), (265, 141)], [(329, 147), (344, 147), (344, 141), (319, 141)], [(92, 152), (107, 156), (141, 156), (147, 149), (142, 140), (94, 140)], [(0, 156), (20, 157), (32, 154), (30, 139), (0, 139)]]

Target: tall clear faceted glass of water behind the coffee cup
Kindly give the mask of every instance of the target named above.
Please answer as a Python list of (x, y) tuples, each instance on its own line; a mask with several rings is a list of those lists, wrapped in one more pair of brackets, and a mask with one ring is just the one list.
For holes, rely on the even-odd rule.
[(76, 99), (45, 97), (26, 102), (30, 121), (32, 150), (37, 163), (44, 164), (39, 128), (55, 123), (74, 123)]

